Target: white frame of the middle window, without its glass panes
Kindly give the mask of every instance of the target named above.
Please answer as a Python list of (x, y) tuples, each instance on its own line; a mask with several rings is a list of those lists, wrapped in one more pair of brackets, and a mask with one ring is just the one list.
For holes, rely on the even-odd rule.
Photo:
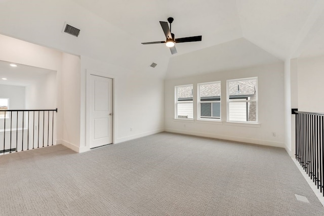
[[(219, 100), (209, 100), (209, 101), (201, 101), (201, 98), (200, 98), (200, 86), (203, 86), (203, 85), (208, 85), (208, 84), (215, 84), (215, 83), (219, 83), (220, 84), (220, 96), (219, 96)], [(221, 81), (213, 81), (213, 82), (204, 82), (204, 83), (198, 83), (197, 84), (197, 89), (198, 89), (198, 97), (197, 97), (197, 106), (198, 106), (198, 120), (199, 121), (215, 121), (215, 122), (220, 122), (222, 121), (222, 83)], [(218, 117), (204, 117), (204, 118), (201, 118), (201, 103), (211, 103), (211, 116), (213, 115), (213, 103), (219, 103), (219, 107), (220, 107), (220, 114), (219, 114), (219, 118)]]

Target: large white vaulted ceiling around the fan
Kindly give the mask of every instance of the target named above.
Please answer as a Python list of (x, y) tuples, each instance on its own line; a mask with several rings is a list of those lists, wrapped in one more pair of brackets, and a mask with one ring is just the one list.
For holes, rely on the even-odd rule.
[[(203, 40), (176, 44), (176, 55), (164, 44), (142, 45), (165, 40), (158, 21), (168, 17), (176, 38)], [(65, 22), (79, 37), (62, 33)], [(211, 72), (324, 55), (324, 1), (0, 0), (0, 33), (135, 71), (155, 62), (154, 72), (176, 74), (177, 62), (190, 59)]]

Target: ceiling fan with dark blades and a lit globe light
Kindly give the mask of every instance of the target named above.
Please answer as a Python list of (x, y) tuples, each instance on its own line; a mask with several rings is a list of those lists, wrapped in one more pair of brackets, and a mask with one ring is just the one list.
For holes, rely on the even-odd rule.
[(192, 37), (182, 37), (175, 38), (174, 34), (171, 33), (171, 23), (173, 22), (173, 18), (169, 17), (168, 22), (170, 23), (170, 28), (167, 22), (160, 21), (161, 27), (166, 35), (166, 41), (154, 41), (154, 42), (145, 42), (142, 44), (154, 44), (154, 43), (166, 43), (168, 47), (170, 47), (170, 51), (173, 54), (177, 53), (177, 49), (175, 43), (184, 43), (184, 42), (193, 42), (193, 41), (201, 41), (201, 35), (192, 36)]

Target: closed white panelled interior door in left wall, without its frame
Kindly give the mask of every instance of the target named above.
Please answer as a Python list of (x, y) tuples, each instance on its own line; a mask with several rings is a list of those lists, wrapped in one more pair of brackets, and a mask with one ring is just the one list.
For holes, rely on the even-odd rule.
[(90, 148), (112, 143), (112, 79), (90, 76)]

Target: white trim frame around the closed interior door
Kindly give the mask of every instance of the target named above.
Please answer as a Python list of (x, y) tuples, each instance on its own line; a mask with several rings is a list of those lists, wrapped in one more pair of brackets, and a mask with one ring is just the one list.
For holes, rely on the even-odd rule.
[(91, 75), (94, 76), (100, 76), (100, 77), (105, 77), (112, 79), (112, 143), (115, 143), (115, 135), (116, 135), (116, 103), (115, 103), (115, 81), (116, 77), (112, 76), (111, 74), (108, 73), (103, 73), (99, 71), (94, 71), (94, 70), (89, 70), (87, 69), (87, 80), (86, 80), (86, 148), (90, 149), (90, 110), (91, 110), (91, 104), (90, 104), (90, 97), (91, 95), (91, 89), (90, 89), (90, 79)]

